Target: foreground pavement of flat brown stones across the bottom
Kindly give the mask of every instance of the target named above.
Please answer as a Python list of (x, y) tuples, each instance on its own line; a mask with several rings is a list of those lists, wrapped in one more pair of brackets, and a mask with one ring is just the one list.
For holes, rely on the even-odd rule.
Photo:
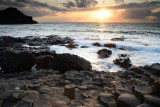
[(125, 72), (1, 74), (0, 107), (159, 107), (160, 64)]

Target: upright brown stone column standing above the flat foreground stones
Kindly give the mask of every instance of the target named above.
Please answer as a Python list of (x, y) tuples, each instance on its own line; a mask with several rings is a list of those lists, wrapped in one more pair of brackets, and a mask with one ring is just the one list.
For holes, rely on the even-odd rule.
[(70, 99), (75, 99), (75, 85), (65, 85), (64, 96), (67, 96)]

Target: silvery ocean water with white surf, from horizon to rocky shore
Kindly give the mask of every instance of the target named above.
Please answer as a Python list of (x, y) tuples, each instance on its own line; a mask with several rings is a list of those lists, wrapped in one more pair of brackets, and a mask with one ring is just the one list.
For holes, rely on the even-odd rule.
[[(113, 63), (119, 54), (128, 54), (133, 66), (160, 63), (160, 23), (39, 23), (27, 25), (0, 25), (0, 36), (40, 36), (58, 35), (71, 37), (79, 45), (77, 49), (53, 45), (57, 53), (71, 53), (90, 61), (93, 70), (116, 72), (123, 70)], [(112, 38), (126, 38), (112, 41)], [(114, 43), (109, 58), (99, 58), (97, 51), (106, 47), (96, 47), (92, 43)], [(89, 48), (80, 48), (80, 46)], [(120, 50), (118, 48), (125, 48)], [(109, 49), (109, 48), (107, 48)]]

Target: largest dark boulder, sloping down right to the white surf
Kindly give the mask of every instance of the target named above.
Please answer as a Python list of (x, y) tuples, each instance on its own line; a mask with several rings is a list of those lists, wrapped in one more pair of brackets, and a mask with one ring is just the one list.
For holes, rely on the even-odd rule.
[(84, 58), (71, 54), (59, 54), (53, 59), (53, 68), (61, 72), (69, 70), (91, 70), (91, 63)]

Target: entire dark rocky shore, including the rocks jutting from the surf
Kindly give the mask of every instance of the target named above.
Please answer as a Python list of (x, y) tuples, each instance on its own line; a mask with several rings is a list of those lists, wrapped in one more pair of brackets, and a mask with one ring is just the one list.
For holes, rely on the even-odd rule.
[[(0, 107), (160, 106), (160, 64), (130, 69), (130, 59), (122, 54), (114, 62), (125, 71), (98, 72), (81, 57), (49, 50), (49, 45), (57, 44), (77, 47), (73, 39), (56, 35), (0, 37), (4, 71), (0, 74)], [(102, 57), (112, 54), (108, 50), (99, 53)], [(40, 72), (31, 72), (34, 64)]]

